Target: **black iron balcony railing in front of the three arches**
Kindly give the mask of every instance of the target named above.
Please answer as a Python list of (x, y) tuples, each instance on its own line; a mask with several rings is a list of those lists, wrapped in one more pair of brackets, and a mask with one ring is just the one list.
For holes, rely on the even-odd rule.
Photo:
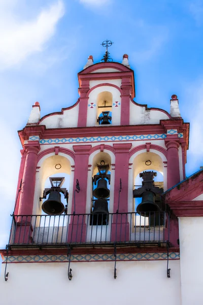
[(165, 211), (76, 215), (12, 216), (11, 247), (155, 245), (169, 241)]

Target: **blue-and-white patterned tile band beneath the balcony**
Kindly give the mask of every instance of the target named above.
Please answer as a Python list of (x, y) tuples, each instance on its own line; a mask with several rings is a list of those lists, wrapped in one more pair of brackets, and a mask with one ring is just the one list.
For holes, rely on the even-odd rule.
[[(6, 263), (6, 257), (4, 257), (3, 263)], [(117, 254), (117, 261), (140, 261), (140, 260), (166, 260), (167, 253), (129, 253), (129, 254)], [(169, 253), (169, 259), (180, 259), (180, 253)], [(114, 254), (79, 254), (71, 255), (71, 262), (96, 262), (96, 261), (114, 261)], [(8, 263), (43, 263), (43, 262), (68, 262), (65, 255), (19, 255), (8, 256)]]

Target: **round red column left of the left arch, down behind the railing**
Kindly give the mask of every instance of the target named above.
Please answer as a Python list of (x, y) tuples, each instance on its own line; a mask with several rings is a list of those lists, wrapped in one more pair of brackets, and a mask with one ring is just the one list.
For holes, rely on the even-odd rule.
[(40, 150), (38, 141), (31, 141), (31, 143), (25, 144), (24, 147), (26, 157), (18, 208), (18, 215), (22, 215), (22, 217), (16, 218), (15, 242), (17, 243), (28, 243), (31, 241), (31, 217), (27, 217), (27, 215), (32, 215), (36, 167)]

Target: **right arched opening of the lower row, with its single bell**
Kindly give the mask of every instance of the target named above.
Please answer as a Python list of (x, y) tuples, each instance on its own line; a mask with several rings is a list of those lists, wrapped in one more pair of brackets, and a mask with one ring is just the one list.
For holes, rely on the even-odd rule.
[(163, 160), (159, 153), (143, 151), (138, 152), (132, 162), (132, 233), (138, 240), (160, 240), (165, 222), (165, 208), (161, 200), (165, 178)]

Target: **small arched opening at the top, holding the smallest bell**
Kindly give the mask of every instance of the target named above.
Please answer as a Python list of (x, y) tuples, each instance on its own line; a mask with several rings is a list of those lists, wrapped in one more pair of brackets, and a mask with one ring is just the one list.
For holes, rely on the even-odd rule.
[(110, 125), (112, 124), (112, 100), (111, 92), (104, 91), (97, 95), (97, 124)]

